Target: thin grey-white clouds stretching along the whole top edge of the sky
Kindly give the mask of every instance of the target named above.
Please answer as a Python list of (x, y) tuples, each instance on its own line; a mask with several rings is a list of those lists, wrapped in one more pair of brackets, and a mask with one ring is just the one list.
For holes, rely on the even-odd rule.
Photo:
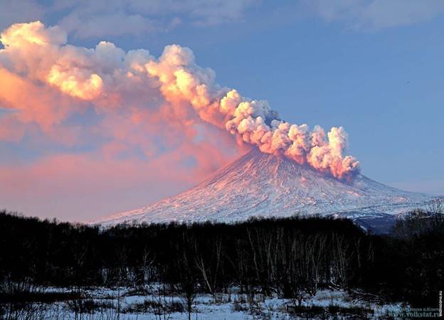
[[(260, 0), (0, 0), (0, 29), (41, 20), (58, 24), (76, 38), (141, 36), (181, 25), (197, 28), (243, 21)], [(300, 4), (303, 4), (300, 6)], [(444, 14), (444, 0), (298, 0), (326, 21), (343, 21), (355, 30), (406, 26)], [(263, 9), (266, 10), (266, 9)], [(282, 16), (282, 14), (280, 14)], [(288, 17), (282, 16), (282, 19)]]

